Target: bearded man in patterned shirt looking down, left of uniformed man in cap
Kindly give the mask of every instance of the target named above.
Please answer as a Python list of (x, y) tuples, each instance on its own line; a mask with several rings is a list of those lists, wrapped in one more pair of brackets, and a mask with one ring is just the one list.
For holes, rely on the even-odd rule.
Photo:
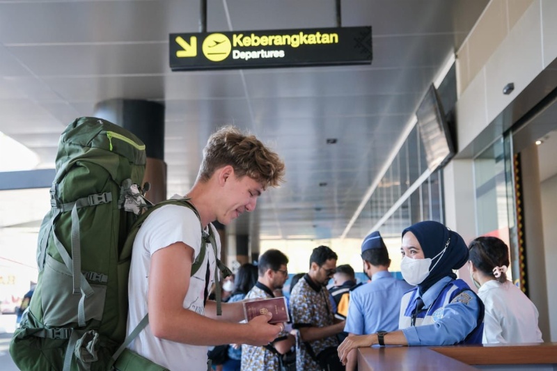
[(328, 246), (314, 248), (308, 273), (290, 294), (292, 324), (299, 330), (300, 336), (296, 346), (297, 370), (321, 370), (318, 359), (327, 354), (331, 347), (338, 346), (336, 334), (343, 331), (345, 321), (334, 317), (326, 287), (335, 274), (337, 259), (336, 253)]

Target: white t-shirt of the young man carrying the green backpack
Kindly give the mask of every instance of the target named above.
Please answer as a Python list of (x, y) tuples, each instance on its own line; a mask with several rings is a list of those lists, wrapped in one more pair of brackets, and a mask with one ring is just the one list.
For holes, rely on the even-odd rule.
[[(217, 251), (220, 254), (221, 243), (219, 234), (212, 224), (213, 234), (217, 242)], [(132, 265), (130, 267), (130, 281), (128, 294), (130, 308), (127, 318), (127, 335), (139, 324), (147, 314), (148, 276), (151, 255), (160, 248), (175, 242), (183, 242), (194, 248), (195, 257), (201, 249), (201, 223), (196, 214), (187, 207), (166, 205), (155, 210), (148, 216), (143, 226), (139, 229), (134, 241)], [(205, 314), (203, 306), (205, 292), (205, 274), (207, 260), (210, 265), (211, 287), (214, 282), (214, 269), (216, 262), (214, 251), (207, 243), (205, 260), (201, 267), (189, 281), (189, 289), (184, 299), (184, 308), (194, 310), (201, 315)], [(172, 371), (181, 370), (207, 370), (207, 347), (182, 344), (155, 338), (149, 325), (134, 339), (129, 346), (134, 352), (141, 354), (151, 361), (162, 365)]]

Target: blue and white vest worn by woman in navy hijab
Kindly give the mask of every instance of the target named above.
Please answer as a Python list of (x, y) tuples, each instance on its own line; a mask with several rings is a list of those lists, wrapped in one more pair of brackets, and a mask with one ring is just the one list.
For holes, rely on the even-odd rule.
[[(437, 299), (434, 300), (430, 308), (424, 308), (417, 313), (414, 326), (423, 326), (437, 322), (437, 320), (443, 316), (444, 306), (451, 303), (455, 297), (464, 291), (466, 291), (466, 294), (474, 295), (476, 299), (478, 299), (480, 310), (478, 313), (476, 327), (468, 334), (468, 336), (466, 336), (466, 338), (464, 338), (464, 340), (458, 342), (457, 344), (481, 344), (483, 336), (484, 305), (478, 295), (470, 290), (470, 287), (460, 279), (449, 282), (443, 290), (441, 290), (439, 296), (437, 296)], [(411, 326), (411, 317), (416, 309), (417, 298), (418, 287), (410, 292), (407, 292), (405, 296), (402, 297), (400, 319), (398, 324), (399, 329), (406, 329)]]

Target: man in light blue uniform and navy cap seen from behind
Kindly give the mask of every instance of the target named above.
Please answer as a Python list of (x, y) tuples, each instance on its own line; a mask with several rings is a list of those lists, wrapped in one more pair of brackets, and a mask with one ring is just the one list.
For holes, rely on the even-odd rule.
[[(361, 258), (363, 271), (371, 282), (350, 292), (345, 331), (350, 335), (365, 335), (398, 330), (400, 300), (414, 286), (393, 278), (389, 272), (391, 259), (379, 232), (371, 232), (363, 239)], [(355, 369), (356, 352), (351, 352), (346, 370)]]

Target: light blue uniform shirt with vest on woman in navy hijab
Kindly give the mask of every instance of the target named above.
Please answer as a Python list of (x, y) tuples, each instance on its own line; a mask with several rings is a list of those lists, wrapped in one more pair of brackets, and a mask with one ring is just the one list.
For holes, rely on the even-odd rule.
[[(457, 284), (467, 290), (461, 292), (462, 287)], [(400, 308), (400, 329), (408, 345), (454, 345), (464, 341), (473, 331), (482, 333), (483, 323), (478, 326), (478, 318), (483, 304), (462, 280), (444, 277), (432, 285), (422, 296), (423, 312), (418, 315), (416, 325), (410, 326), (410, 308), (415, 308), (418, 297), (416, 290), (417, 287), (405, 295), (402, 299), (404, 308)]]

